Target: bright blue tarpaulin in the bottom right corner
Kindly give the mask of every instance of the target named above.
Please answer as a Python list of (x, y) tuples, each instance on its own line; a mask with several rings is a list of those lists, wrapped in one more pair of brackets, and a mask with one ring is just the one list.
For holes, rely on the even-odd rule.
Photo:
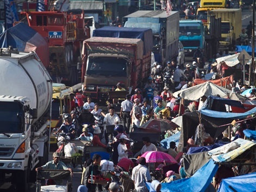
[(225, 178), (220, 183), (218, 192), (256, 191), (256, 173)]

